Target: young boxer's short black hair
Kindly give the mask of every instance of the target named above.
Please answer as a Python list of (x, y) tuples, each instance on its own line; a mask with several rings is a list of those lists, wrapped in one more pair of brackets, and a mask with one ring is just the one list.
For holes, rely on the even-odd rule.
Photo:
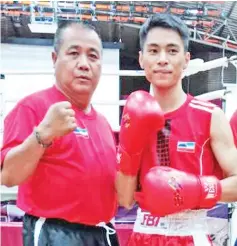
[[(149, 17), (142, 25), (139, 38), (140, 48), (143, 50), (144, 43), (146, 42), (148, 32), (155, 28), (162, 27), (176, 31), (184, 43), (184, 50), (188, 51), (189, 48), (189, 30), (187, 25), (177, 16), (170, 13), (157, 13)], [(159, 37), (157, 37), (159, 39)]]

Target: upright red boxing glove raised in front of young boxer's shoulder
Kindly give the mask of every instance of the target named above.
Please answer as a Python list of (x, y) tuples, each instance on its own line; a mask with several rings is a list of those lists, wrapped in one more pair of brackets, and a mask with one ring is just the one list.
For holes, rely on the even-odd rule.
[(163, 128), (164, 115), (155, 98), (146, 91), (135, 91), (123, 109), (117, 160), (119, 170), (136, 176), (144, 147), (151, 135)]

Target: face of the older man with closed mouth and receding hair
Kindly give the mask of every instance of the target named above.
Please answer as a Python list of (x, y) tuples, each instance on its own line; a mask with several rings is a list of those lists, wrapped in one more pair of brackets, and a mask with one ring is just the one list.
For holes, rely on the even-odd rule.
[(67, 27), (60, 49), (52, 58), (56, 82), (68, 96), (93, 94), (102, 64), (102, 44), (94, 31), (80, 25)]

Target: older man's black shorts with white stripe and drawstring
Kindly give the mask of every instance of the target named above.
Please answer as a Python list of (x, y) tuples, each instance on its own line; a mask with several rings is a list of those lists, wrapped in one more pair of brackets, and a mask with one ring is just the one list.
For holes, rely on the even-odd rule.
[(60, 219), (44, 219), (25, 214), (24, 246), (119, 246), (111, 223), (87, 226)]

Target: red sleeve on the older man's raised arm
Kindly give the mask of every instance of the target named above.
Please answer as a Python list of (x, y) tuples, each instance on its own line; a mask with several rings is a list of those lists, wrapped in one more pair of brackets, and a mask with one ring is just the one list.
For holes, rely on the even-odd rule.
[(35, 111), (23, 104), (16, 105), (6, 116), (3, 128), (1, 165), (8, 151), (24, 142), (37, 125), (38, 120)]

